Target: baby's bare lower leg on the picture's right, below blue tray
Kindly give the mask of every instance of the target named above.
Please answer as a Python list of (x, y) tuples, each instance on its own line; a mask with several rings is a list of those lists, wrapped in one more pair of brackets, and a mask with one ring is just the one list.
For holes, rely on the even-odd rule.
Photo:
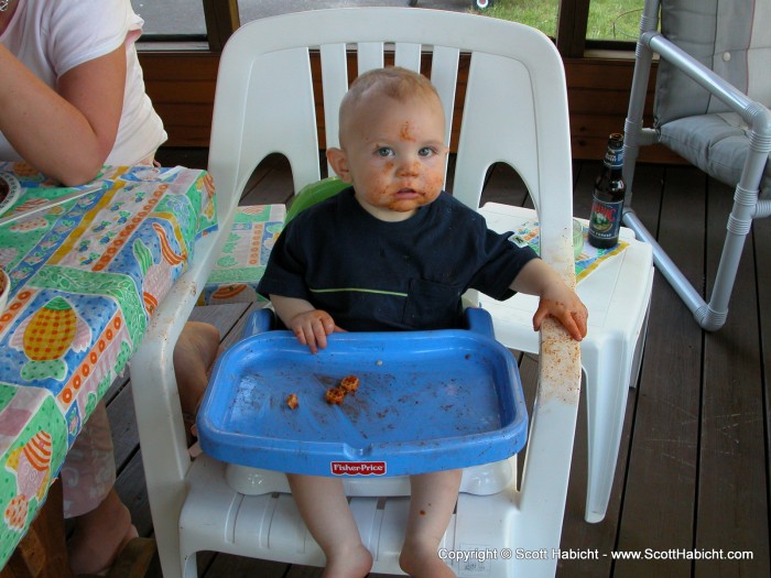
[(412, 498), (399, 565), (415, 578), (454, 577), (437, 554), (455, 510), (463, 470), (410, 477)]

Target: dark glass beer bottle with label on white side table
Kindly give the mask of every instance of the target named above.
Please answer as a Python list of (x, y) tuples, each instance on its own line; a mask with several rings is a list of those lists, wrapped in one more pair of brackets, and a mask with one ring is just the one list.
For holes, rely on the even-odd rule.
[(623, 165), (623, 134), (608, 137), (602, 171), (595, 181), (595, 190), (589, 217), (589, 244), (597, 249), (608, 249), (618, 243), (621, 227), (621, 211), (627, 184), (621, 175)]

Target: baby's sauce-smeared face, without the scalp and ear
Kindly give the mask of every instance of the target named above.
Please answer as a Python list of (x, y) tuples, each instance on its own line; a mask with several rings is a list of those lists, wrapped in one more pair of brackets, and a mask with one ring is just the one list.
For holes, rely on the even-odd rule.
[(404, 220), (442, 192), (445, 120), (438, 99), (374, 97), (344, 143), (356, 197), (381, 220)]

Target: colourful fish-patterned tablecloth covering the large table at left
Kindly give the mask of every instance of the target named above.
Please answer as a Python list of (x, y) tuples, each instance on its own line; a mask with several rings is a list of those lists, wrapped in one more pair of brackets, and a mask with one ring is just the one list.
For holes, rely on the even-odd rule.
[[(11, 279), (0, 312), (2, 568), (216, 217), (200, 170), (106, 166), (76, 188), (57, 188), (23, 163), (0, 171), (22, 186), (0, 215), (0, 266)], [(99, 189), (1, 223), (87, 187)]]

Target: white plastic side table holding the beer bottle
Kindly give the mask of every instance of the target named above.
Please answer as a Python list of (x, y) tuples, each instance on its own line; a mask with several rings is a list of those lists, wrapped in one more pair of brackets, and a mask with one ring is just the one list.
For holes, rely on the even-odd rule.
[[(518, 222), (536, 218), (531, 209), (498, 203), (487, 203), (479, 212), (498, 231), (511, 230)], [(587, 221), (583, 219), (583, 222), (586, 227)], [(608, 509), (629, 388), (637, 384), (639, 377), (653, 288), (651, 247), (636, 240), (632, 230), (626, 227), (621, 227), (620, 239), (629, 246), (577, 285), (578, 296), (589, 309), (580, 360), (586, 375), (588, 427), (584, 517), (590, 523), (601, 522)], [(537, 351), (537, 336), (532, 327), (535, 297), (517, 294), (499, 302), (480, 294), (478, 301), (492, 316), (498, 341), (520, 351)]]

